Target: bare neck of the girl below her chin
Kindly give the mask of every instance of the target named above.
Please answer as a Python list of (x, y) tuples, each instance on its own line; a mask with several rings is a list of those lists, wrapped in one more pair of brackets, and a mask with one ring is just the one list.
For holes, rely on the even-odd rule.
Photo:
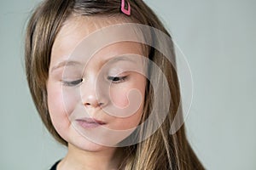
[(100, 151), (81, 150), (68, 144), (67, 155), (58, 165), (58, 169), (119, 169), (122, 159), (120, 148), (105, 147)]

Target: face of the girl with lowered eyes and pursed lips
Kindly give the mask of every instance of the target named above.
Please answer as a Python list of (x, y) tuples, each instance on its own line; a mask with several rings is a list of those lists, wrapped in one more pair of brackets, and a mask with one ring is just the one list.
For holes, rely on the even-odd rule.
[[(116, 42), (102, 47), (92, 58), (86, 56), (91, 44), (84, 46), (84, 51), (77, 49), (84, 37), (109, 25), (98, 18), (71, 18), (52, 48), (47, 82), (49, 115), (61, 137), (83, 150), (117, 144), (137, 127), (143, 114), (146, 78), (141, 74), (143, 59), (134, 55), (143, 56), (141, 45)], [(73, 50), (84, 53), (84, 58), (70, 58)], [(113, 133), (117, 130), (128, 131)]]

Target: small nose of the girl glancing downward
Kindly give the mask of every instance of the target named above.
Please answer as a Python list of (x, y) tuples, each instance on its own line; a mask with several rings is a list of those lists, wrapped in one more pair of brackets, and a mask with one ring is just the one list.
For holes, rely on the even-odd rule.
[(80, 89), (82, 102), (85, 107), (102, 107), (107, 105), (108, 100), (102, 94), (100, 88), (97, 88), (96, 81), (84, 81)]

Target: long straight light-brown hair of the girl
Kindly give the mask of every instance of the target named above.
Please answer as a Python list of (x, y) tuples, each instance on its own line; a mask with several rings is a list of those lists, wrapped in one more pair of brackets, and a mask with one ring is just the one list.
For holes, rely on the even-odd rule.
[[(171, 37), (158, 17), (143, 1), (130, 0), (129, 3), (132, 9), (129, 20), (152, 26)], [(73, 13), (84, 16), (119, 15), (121, 14), (120, 0), (46, 0), (36, 8), (28, 23), (25, 60), (26, 77), (32, 99), (49, 133), (57, 141), (65, 145), (67, 145), (67, 141), (56, 133), (49, 118), (46, 82), (49, 74), (51, 48), (55, 37), (68, 16)], [(173, 56), (175, 56), (173, 44), (168, 45), (172, 49)], [(160, 127), (148, 139), (138, 144), (124, 147), (125, 160), (120, 167), (125, 167), (127, 170), (204, 169), (189, 145), (184, 126), (179, 128), (177, 133), (169, 134), (181, 98), (177, 72), (173, 67), (173, 63), (168, 62), (158, 50), (151, 47), (148, 47), (148, 58), (158, 65), (166, 76), (171, 91), (170, 110), (164, 122), (160, 124)], [(148, 69), (150, 70), (150, 67)], [(161, 81), (160, 75), (154, 75), (154, 78), (159, 78), (158, 81)], [(142, 121), (148, 118), (148, 114), (152, 111), (153, 103), (158, 102), (154, 101), (153, 96), (153, 88), (148, 82)], [(164, 92), (162, 96), (165, 96)], [(157, 115), (157, 113), (154, 114)], [(150, 124), (148, 124), (148, 127), (143, 128), (150, 128), (149, 126)], [(143, 132), (143, 129), (141, 129), (138, 133), (140, 136), (143, 136)]]

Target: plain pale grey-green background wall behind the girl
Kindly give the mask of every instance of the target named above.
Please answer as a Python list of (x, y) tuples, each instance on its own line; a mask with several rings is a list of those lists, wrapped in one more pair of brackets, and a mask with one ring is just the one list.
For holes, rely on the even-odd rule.
[[(194, 99), (189, 140), (207, 169), (256, 169), (256, 1), (147, 0), (186, 55)], [(0, 3), (0, 169), (47, 169), (66, 153), (49, 136), (23, 64), (38, 0)]]

